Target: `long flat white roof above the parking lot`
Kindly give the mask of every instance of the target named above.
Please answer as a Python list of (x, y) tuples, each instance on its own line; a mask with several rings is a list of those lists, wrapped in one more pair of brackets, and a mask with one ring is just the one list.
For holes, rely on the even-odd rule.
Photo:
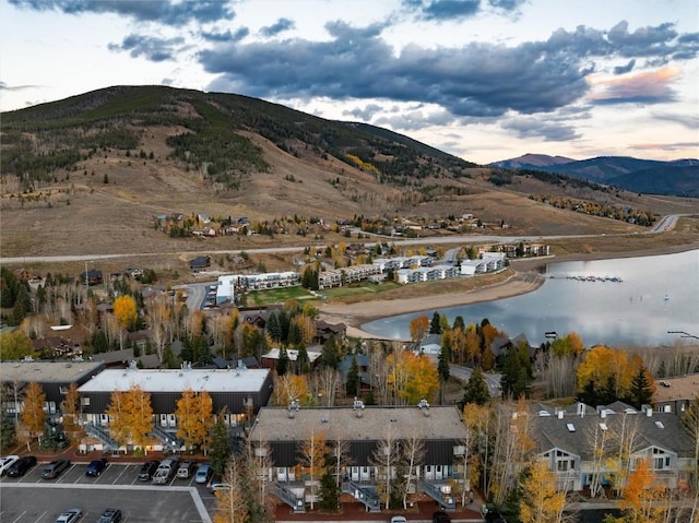
[(269, 373), (268, 369), (107, 369), (79, 390), (112, 392), (139, 385), (145, 392), (258, 392)]

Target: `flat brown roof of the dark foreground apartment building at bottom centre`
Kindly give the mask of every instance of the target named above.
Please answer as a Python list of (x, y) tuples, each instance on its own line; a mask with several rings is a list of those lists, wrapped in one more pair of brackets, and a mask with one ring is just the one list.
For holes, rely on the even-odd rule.
[(384, 439), (388, 430), (393, 430), (399, 439), (461, 439), (466, 428), (455, 406), (300, 407), (298, 411), (263, 407), (250, 437), (263, 441), (303, 441), (311, 430), (322, 431), (329, 439), (374, 441)]

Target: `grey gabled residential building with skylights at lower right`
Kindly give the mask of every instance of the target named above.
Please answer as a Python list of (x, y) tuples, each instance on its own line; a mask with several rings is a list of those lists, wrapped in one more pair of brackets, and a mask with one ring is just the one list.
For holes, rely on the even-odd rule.
[(695, 441), (674, 413), (653, 413), (650, 405), (637, 411), (616, 402), (597, 408), (540, 404), (530, 415), (535, 452), (556, 473), (560, 490), (602, 495), (625, 485), (640, 460), (649, 461), (667, 488), (692, 484)]

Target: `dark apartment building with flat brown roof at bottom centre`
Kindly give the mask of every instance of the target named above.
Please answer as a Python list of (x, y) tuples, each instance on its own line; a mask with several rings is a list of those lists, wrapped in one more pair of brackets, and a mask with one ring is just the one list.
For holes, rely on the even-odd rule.
[(379, 464), (377, 455), (399, 455), (413, 439), (424, 447), (424, 455), (411, 471), (417, 494), (433, 497), (440, 507), (453, 509), (453, 482), (463, 478), (464, 449), (461, 441), (466, 427), (454, 406), (366, 407), (355, 401), (350, 407), (262, 408), (250, 432), (256, 455), (268, 460), (270, 491), (303, 512), (316, 497), (308, 482), (308, 469), (300, 457), (301, 444), (322, 433), (331, 452), (343, 445), (341, 459), (342, 490), (363, 502), (368, 511), (380, 511), (379, 490), (394, 466)]

